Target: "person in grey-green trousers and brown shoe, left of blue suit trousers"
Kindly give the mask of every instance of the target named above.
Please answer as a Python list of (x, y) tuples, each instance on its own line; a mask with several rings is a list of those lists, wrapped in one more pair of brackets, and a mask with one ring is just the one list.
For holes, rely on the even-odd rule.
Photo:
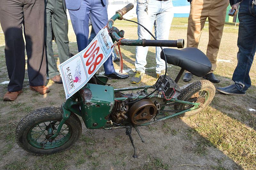
[(60, 72), (52, 50), (52, 31), (58, 46), (60, 64), (70, 58), (68, 47), (68, 18), (65, 0), (47, 0), (46, 2), (46, 50), (48, 76), (55, 83), (62, 83)]

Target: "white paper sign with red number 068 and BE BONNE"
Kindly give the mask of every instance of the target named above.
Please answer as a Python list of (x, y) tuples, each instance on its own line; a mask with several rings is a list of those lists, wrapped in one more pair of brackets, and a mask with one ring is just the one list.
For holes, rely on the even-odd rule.
[(59, 65), (66, 99), (75, 94), (91, 79), (112, 54), (113, 45), (106, 27), (82, 51)]

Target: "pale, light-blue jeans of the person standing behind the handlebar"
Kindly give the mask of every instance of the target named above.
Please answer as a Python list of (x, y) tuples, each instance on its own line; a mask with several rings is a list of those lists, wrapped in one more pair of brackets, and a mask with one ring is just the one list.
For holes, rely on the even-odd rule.
[[(148, 10), (146, 12), (146, 7)], [(173, 18), (172, 1), (156, 1), (156, 0), (138, 0), (137, 2), (137, 19), (138, 22), (152, 31), (155, 26), (155, 36), (157, 40), (168, 40), (170, 27)], [(151, 35), (141, 26), (138, 26), (139, 39), (150, 40)], [(161, 73), (165, 69), (165, 62), (160, 58), (161, 48), (156, 47), (156, 73)], [(147, 64), (146, 57), (148, 47), (136, 47), (136, 71), (145, 73), (145, 66)]]

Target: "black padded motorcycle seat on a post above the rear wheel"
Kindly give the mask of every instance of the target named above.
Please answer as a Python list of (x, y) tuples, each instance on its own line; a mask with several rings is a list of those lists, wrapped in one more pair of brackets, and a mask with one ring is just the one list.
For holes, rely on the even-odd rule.
[[(203, 77), (212, 69), (210, 60), (197, 48), (187, 47), (181, 50), (165, 48), (163, 50), (168, 64), (184, 68), (198, 77)], [(161, 51), (161, 58), (163, 60), (164, 53)]]

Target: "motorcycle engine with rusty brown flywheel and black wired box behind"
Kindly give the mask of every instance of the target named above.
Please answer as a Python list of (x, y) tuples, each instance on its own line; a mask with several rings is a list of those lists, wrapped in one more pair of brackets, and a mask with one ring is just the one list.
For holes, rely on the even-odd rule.
[[(155, 89), (158, 88), (159, 94), (164, 95), (165, 99), (166, 97), (176, 98), (181, 93), (178, 84), (168, 75), (165, 79), (163, 75), (160, 76), (154, 87)], [(116, 124), (120, 124), (124, 120), (128, 120), (127, 123), (132, 122), (134, 125), (147, 123), (156, 116), (157, 111), (160, 111), (160, 105), (165, 104), (165, 100), (161, 97), (146, 98), (133, 104), (127, 104), (136, 100), (139, 96), (146, 96), (147, 94), (144, 90), (131, 94), (115, 92), (114, 95), (115, 98), (127, 97), (128, 99), (124, 101), (115, 100), (111, 116)]]

